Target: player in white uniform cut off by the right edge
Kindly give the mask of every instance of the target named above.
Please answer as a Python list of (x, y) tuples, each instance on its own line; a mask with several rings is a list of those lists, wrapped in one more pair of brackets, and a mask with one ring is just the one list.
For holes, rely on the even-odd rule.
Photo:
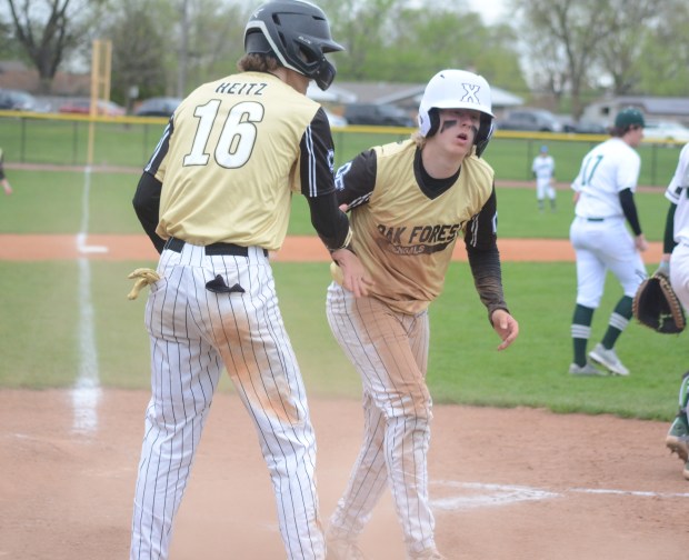
[[(670, 201), (663, 238), (663, 256), (659, 271), (670, 278), (670, 283), (682, 306), (689, 311), (689, 144), (679, 154), (675, 176), (666, 198)], [(666, 444), (685, 461), (683, 477), (689, 480), (689, 371), (679, 388), (679, 411), (666, 437)]]

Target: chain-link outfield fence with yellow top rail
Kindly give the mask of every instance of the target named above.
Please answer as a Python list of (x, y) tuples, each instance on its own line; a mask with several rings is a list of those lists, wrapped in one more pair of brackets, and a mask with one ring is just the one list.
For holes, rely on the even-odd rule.
[[(86, 166), (89, 128), (93, 126), (94, 167), (141, 169), (167, 123), (166, 118), (94, 117), (0, 111), (0, 148), (8, 167), (12, 164)], [(400, 127), (349, 126), (333, 128), (336, 164), (371, 146), (408, 138), (413, 129)], [(605, 136), (498, 130), (486, 152), (498, 181), (531, 180), (531, 162), (541, 144), (556, 159), (559, 182), (571, 181), (581, 158)], [(677, 166), (681, 143), (645, 142), (639, 183), (666, 187)]]

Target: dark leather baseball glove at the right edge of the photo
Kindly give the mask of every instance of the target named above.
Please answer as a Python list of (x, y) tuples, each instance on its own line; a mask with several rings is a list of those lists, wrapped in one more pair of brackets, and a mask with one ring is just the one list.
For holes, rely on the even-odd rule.
[(668, 277), (658, 272), (641, 282), (631, 310), (641, 324), (661, 334), (677, 334), (687, 324), (685, 310)]

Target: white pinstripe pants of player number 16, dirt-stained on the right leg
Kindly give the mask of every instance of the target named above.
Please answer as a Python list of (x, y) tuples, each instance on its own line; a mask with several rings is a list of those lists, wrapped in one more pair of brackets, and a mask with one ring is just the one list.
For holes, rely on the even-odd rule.
[[(316, 440), (301, 373), (263, 251), (207, 257), (164, 250), (146, 307), (151, 400), (139, 463), (131, 560), (168, 558), (179, 508), (224, 367), (251, 416), (277, 501), (289, 559), (324, 558), (316, 493)], [(244, 293), (213, 293), (220, 274)], [(228, 427), (231, 437), (232, 427)], [(228, 558), (231, 547), (228, 548)]]

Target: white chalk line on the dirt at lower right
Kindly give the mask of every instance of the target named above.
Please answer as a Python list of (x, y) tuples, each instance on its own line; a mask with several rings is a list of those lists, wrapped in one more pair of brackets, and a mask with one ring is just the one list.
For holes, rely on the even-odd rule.
[(640, 498), (689, 498), (687, 492), (672, 493), (605, 488), (569, 488), (562, 492), (552, 492), (542, 488), (526, 486), (456, 482), (451, 480), (432, 482), (431, 487), (433, 487), (435, 493), (443, 494), (440, 498), (430, 500), (431, 508), (438, 511), (458, 511), (507, 506), (523, 501), (549, 500), (562, 498), (567, 493), (615, 494)]

